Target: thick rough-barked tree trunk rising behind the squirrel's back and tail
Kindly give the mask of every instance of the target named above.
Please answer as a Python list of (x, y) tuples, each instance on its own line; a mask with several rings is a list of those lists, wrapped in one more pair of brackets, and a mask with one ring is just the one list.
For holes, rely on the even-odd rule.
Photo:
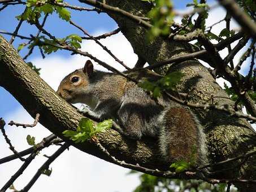
[[(134, 15), (146, 17), (150, 10), (150, 4), (137, 0), (106, 0), (107, 5), (119, 7)], [(177, 42), (167, 38), (158, 37), (154, 42), (145, 41), (146, 29), (124, 16), (108, 13), (118, 23), (122, 33), (131, 43), (134, 53), (154, 64), (161, 60), (179, 56), (193, 51), (193, 46), (186, 42)], [(188, 101), (194, 103), (218, 103), (228, 104), (233, 107), (234, 102), (229, 99), (225, 91), (220, 88), (210, 75), (209, 71), (197, 60), (188, 60), (175, 67), (166, 66), (157, 72), (165, 75), (168, 71), (181, 71), (185, 74), (178, 90), (189, 95)], [(233, 158), (253, 150), (255, 146), (255, 134), (251, 125), (245, 119), (237, 119), (219, 111), (194, 110), (207, 134), (209, 158), (212, 163), (227, 158)], [(218, 178), (247, 178), (256, 179), (255, 158), (249, 158), (248, 163), (241, 168), (216, 174)], [(235, 164), (225, 164), (223, 168), (231, 168)], [(214, 168), (216, 169), (216, 168)], [(241, 190), (254, 191), (254, 185), (237, 185)]]

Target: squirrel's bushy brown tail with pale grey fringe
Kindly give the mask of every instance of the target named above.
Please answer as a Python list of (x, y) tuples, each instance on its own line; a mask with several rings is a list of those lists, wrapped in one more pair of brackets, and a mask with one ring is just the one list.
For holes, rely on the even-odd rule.
[(167, 162), (185, 160), (205, 164), (205, 134), (196, 116), (188, 109), (172, 107), (164, 110), (159, 118), (162, 126), (159, 147)]

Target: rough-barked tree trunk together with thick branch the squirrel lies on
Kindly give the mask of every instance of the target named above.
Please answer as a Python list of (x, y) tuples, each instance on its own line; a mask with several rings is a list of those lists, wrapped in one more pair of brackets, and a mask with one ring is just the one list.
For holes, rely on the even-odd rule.
[[(107, 0), (107, 4), (131, 12), (134, 15), (146, 16), (150, 5), (138, 0)], [(192, 51), (189, 43), (176, 42), (158, 37), (154, 42), (145, 41), (146, 30), (134, 21), (115, 15), (109, 15), (118, 23), (123, 34), (131, 43), (134, 52), (149, 64), (154, 64), (163, 59), (171, 58)], [(163, 67), (158, 70), (160, 74), (168, 71), (181, 71), (185, 74), (178, 85), (179, 91), (188, 93), (190, 102), (218, 103), (234, 106), (225, 91), (220, 88), (205, 67), (197, 60), (188, 60), (175, 67)], [(0, 36), (0, 86), (9, 91), (31, 114), (40, 116), (40, 123), (58, 137), (63, 137), (64, 130), (76, 129), (82, 115), (63, 99), (60, 99), (27, 64), (6, 40)], [(219, 111), (194, 110), (207, 134), (209, 158), (212, 163), (227, 158), (241, 155), (255, 146), (254, 132), (245, 119), (230, 117)], [(104, 134), (99, 134), (99, 141), (119, 160), (127, 163), (138, 163), (148, 168), (166, 169), (168, 164), (159, 156), (158, 147), (151, 138), (134, 141), (120, 136), (115, 130), (109, 129)], [(71, 145), (78, 149), (112, 162), (92, 141)], [(224, 173), (216, 174), (216, 178), (247, 178), (255, 179), (255, 160), (249, 158), (241, 168), (231, 169)], [(234, 164), (225, 164), (230, 168)], [(213, 168), (213, 171), (216, 168)], [(253, 186), (240, 185), (242, 189), (252, 191)]]

